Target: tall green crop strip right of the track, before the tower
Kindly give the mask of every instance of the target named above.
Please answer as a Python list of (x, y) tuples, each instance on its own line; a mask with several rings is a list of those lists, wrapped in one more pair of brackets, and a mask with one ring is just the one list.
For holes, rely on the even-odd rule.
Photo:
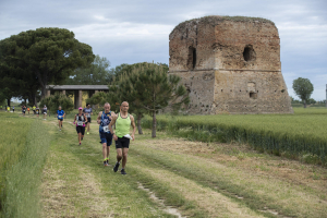
[[(239, 142), (275, 155), (327, 162), (327, 110), (294, 109), (294, 114), (158, 116), (158, 130), (203, 142)], [(150, 128), (150, 119), (144, 119)]]

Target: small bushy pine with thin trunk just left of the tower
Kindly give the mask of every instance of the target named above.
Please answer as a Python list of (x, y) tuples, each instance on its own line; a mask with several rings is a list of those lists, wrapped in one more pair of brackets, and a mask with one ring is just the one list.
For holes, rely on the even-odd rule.
[(143, 63), (135, 65), (130, 74), (124, 73), (116, 86), (118, 92), (124, 92), (138, 110), (145, 110), (153, 117), (152, 136), (156, 137), (158, 111), (170, 107), (179, 110), (190, 102), (186, 88), (180, 84), (181, 77), (168, 74), (164, 64)]

